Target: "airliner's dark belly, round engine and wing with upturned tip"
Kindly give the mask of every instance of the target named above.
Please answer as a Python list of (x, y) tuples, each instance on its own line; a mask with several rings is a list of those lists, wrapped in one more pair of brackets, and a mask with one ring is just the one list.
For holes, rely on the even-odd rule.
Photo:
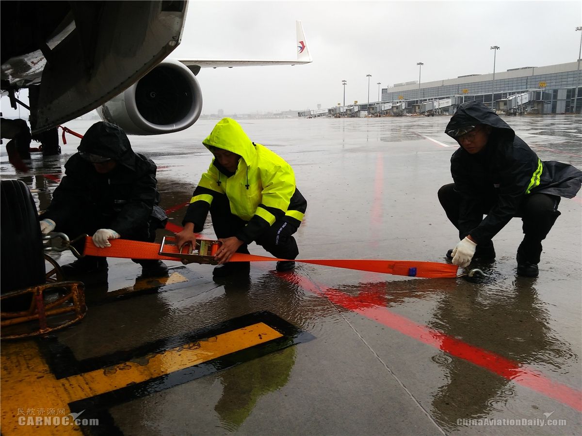
[[(40, 133), (90, 110), (127, 134), (171, 133), (202, 112), (201, 68), (311, 62), (296, 22), (297, 59), (169, 59), (187, 2), (3, 1), (2, 91), (29, 88), (30, 127)], [(34, 17), (31, 17), (34, 15)]]

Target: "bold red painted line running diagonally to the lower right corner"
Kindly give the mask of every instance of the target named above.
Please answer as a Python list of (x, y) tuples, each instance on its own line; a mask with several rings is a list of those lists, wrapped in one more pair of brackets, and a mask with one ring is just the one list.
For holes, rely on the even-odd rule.
[(457, 358), (467, 360), (477, 366), (488, 369), (499, 376), (527, 387), (542, 395), (553, 398), (573, 409), (582, 411), (582, 392), (565, 384), (552, 381), (541, 371), (527, 367), (514, 360), (467, 344), (455, 337), (433, 328), (414, 323), (402, 315), (397, 315), (387, 308), (377, 305), (375, 299), (353, 297), (325, 285), (316, 284), (299, 274), (278, 274), (283, 280), (298, 284), (313, 294), (325, 297), (332, 303), (359, 313), (368, 319), (377, 321), (386, 327), (416, 339), (419, 342), (449, 353)]

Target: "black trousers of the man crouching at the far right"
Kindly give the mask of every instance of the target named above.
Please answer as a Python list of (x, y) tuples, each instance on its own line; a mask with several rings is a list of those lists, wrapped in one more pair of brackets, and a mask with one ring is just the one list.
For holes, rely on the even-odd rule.
[[(459, 238), (463, 239), (467, 234), (459, 229), (459, 205), (461, 196), (455, 191), (455, 184), (444, 185), (438, 191), (438, 199), (441, 206), (445, 209), (446, 216), (453, 223), (453, 226), (459, 230)], [(481, 212), (487, 215), (495, 205), (497, 197), (495, 194), (482, 195)], [(560, 197), (549, 194), (529, 194), (524, 196), (519, 210), (514, 217), (520, 217), (523, 222), (523, 242), (521, 242), (518, 252), (523, 259), (531, 263), (540, 262), (542, 251), (541, 241), (545, 239), (551, 230), (556, 219), (560, 216), (558, 205)], [(477, 223), (478, 224), (478, 223)], [(478, 241), (480, 244), (487, 244), (488, 241)]]

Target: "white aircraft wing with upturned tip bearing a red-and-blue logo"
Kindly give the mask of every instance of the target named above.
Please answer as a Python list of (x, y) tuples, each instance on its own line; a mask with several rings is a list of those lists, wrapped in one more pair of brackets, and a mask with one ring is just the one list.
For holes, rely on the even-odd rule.
[(272, 65), (303, 65), (313, 62), (309, 49), (307, 47), (305, 33), (301, 22), (296, 22), (297, 29), (297, 59), (293, 60), (268, 60), (268, 59), (178, 59), (194, 74), (198, 74), (201, 68), (220, 68), (220, 67), (255, 67), (255, 66), (272, 66)]

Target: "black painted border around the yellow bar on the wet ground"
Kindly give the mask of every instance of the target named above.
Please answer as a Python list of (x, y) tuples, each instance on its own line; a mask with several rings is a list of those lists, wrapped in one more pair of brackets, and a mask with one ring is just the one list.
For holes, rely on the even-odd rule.
[(61, 344), (55, 336), (40, 339), (38, 345), (49, 368), (55, 374), (56, 378), (60, 379), (127, 362), (128, 360), (132, 360), (132, 358), (139, 358), (150, 353), (161, 353), (168, 349), (176, 348), (177, 346), (190, 344), (191, 342), (238, 330), (239, 328), (251, 326), (256, 323), (267, 324), (267, 326), (278, 331), (283, 336), (272, 339), (264, 344), (254, 345), (180, 371), (69, 403), (71, 412), (81, 412), (81, 410), (84, 410), (83, 419), (99, 420), (99, 426), (81, 426), (83, 434), (119, 435), (123, 433), (116, 426), (108, 410), (112, 406), (196, 380), (197, 378), (228, 369), (252, 359), (260, 358), (292, 345), (311, 341), (314, 339), (314, 336), (279, 318), (274, 313), (262, 311), (225, 321), (215, 326), (204, 328), (204, 330), (196, 331), (195, 333), (159, 339), (158, 341), (150, 342), (149, 344), (139, 346), (132, 350), (119, 351), (98, 358), (76, 360), (73, 352), (67, 346)]

